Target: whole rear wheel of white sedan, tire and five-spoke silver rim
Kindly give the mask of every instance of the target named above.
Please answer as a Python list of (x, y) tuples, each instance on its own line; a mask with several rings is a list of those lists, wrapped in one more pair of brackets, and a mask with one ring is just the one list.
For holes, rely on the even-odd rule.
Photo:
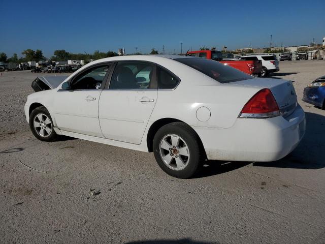
[(190, 178), (202, 165), (200, 139), (181, 122), (161, 127), (153, 139), (154, 157), (161, 169), (177, 178)]

